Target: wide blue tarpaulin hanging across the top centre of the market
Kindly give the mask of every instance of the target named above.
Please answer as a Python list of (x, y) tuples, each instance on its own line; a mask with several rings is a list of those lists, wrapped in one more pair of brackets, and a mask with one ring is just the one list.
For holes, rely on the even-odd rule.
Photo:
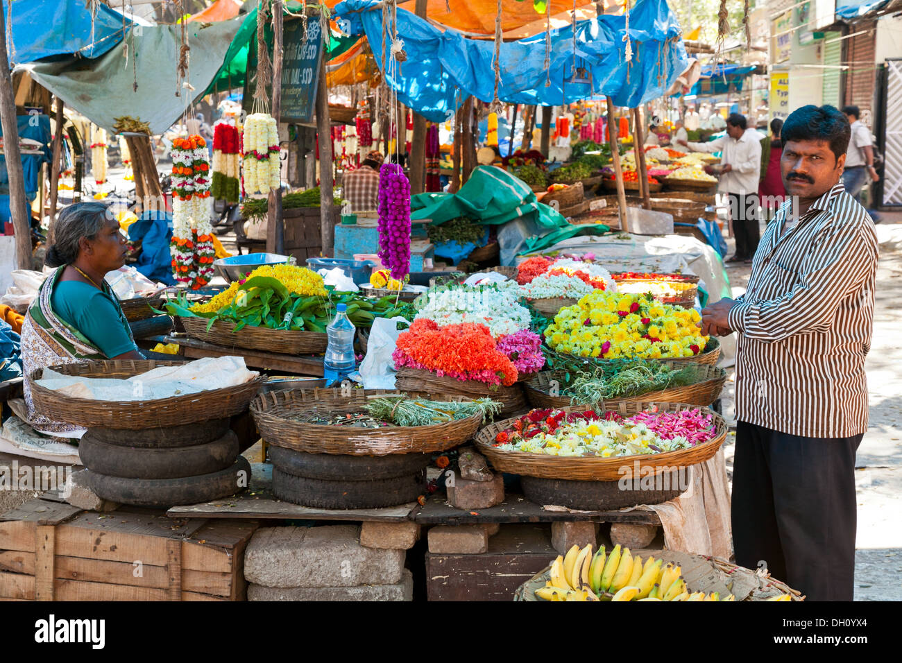
[[(336, 5), (335, 14), (345, 32), (365, 33), (377, 63), (383, 55), (391, 57), (382, 53), (382, 9), (374, 0), (345, 0)], [(676, 14), (666, 0), (638, 0), (630, 11), (630, 62), (624, 55), (625, 23), (624, 16), (608, 14), (577, 22), (575, 50), (572, 25), (552, 30), (548, 66), (544, 33), (502, 43), (498, 97), (510, 104), (557, 106), (606, 95), (615, 106), (629, 107), (662, 97), (688, 66)], [(443, 30), (403, 9), (397, 10), (397, 33), (407, 60), (399, 68), (390, 63), (386, 79), (405, 106), (443, 122), (470, 95), (492, 101), (491, 40)], [(391, 39), (386, 51), (390, 45)], [(577, 67), (591, 72), (591, 85), (565, 83), (574, 55)]]

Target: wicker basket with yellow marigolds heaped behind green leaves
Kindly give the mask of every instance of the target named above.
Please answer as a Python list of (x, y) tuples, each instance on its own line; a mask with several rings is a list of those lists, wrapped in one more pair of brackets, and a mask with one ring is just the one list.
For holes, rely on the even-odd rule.
[[(179, 318), (189, 337), (223, 347), (242, 347), (249, 350), (279, 353), (282, 355), (313, 355), (326, 352), (328, 336), (323, 331), (302, 329), (274, 329), (261, 325), (253, 325), (253, 320), (218, 318), (210, 322), (207, 317), (223, 308), (230, 307), (241, 298), (241, 286), (244, 282), (258, 277), (269, 277), (280, 281), (290, 294), (308, 298), (327, 300), (328, 292), (323, 279), (316, 272), (306, 267), (289, 264), (264, 265), (247, 274), (242, 281), (233, 281), (226, 289), (207, 302), (197, 303), (188, 308), (190, 313)], [(240, 311), (239, 303), (237, 311)], [(244, 325), (241, 323), (244, 322)], [(321, 327), (325, 327), (327, 320)]]

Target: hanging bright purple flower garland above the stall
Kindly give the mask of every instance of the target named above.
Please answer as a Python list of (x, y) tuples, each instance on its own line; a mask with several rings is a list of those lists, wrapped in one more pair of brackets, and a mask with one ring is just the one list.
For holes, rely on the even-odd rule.
[(397, 163), (379, 169), (378, 254), (392, 279), (410, 274), (410, 181)]

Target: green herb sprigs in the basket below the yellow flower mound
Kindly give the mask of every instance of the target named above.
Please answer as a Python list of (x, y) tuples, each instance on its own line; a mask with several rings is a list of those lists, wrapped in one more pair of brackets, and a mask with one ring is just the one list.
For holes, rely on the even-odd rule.
[(675, 368), (644, 359), (616, 359), (596, 362), (572, 355), (560, 355), (542, 348), (551, 379), (561, 385), (561, 396), (577, 403), (641, 396), (650, 391), (684, 387), (698, 380), (698, 368)]

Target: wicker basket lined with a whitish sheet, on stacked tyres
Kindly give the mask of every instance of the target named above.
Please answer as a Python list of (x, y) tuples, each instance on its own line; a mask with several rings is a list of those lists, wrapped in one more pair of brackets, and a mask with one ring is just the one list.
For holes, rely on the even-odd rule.
[[(184, 362), (161, 362), (152, 359), (114, 359), (102, 362), (49, 366), (57, 373), (86, 378), (117, 378), (124, 380), (140, 373), (147, 373), (160, 366), (178, 366)], [(95, 401), (93, 399), (64, 396), (42, 387), (43, 369), (29, 376), (34, 407), (42, 415), (54, 421), (65, 421), (84, 428), (117, 428), (142, 430), (143, 428), (170, 428), (210, 419), (226, 419), (247, 410), (248, 403), (267, 378), (260, 375), (226, 389), (211, 389), (185, 396), (173, 396), (154, 401)]]

